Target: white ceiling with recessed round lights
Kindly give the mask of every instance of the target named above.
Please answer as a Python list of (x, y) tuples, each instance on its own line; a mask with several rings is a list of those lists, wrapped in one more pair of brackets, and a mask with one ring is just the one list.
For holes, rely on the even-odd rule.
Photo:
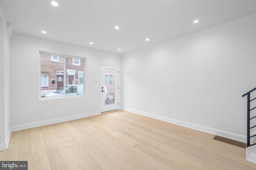
[(55, 1), (59, 6), (52, 0), (0, 4), (16, 33), (119, 54), (256, 14), (256, 0)]

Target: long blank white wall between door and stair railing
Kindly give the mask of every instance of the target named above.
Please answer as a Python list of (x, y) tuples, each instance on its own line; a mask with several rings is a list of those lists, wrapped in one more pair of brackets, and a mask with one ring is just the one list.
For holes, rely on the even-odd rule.
[(246, 141), (255, 30), (252, 15), (123, 55), (122, 109)]

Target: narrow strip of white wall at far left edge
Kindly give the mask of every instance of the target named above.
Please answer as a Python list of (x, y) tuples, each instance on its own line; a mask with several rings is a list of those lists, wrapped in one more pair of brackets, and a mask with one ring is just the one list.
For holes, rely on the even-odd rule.
[(10, 43), (8, 27), (0, 4), (0, 150), (10, 139)]

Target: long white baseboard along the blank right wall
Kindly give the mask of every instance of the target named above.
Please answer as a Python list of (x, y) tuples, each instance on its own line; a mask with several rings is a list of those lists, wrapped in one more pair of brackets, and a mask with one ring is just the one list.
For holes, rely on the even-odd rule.
[(177, 119), (172, 119), (172, 118), (169, 118), (169, 117), (164, 117), (164, 116), (155, 115), (155, 114), (152, 114), (152, 113), (146, 113), (146, 112), (143, 112), (143, 111), (138, 111), (138, 110), (133, 110), (133, 109), (128, 109), (128, 108), (124, 108), (124, 107), (122, 107), (122, 110), (129, 111), (131, 113), (136, 113), (136, 114), (139, 114), (139, 115), (144, 115), (144, 116), (147, 116), (147, 117), (152, 117), (152, 118), (155, 118), (155, 119), (159, 119), (159, 120), (162, 120), (162, 121), (166, 121), (166, 122), (169, 122), (169, 123), (180, 125), (180, 126), (183, 126), (183, 127), (188, 127), (190, 129), (194, 129), (194, 130), (198, 130), (198, 131), (202, 131), (202, 132), (206, 132), (206, 133), (210, 133), (210, 134), (214, 134), (214, 135), (218, 135), (218, 136), (226, 137), (226, 138), (229, 138), (229, 139), (234, 139), (236, 141), (241, 141), (241, 142), (247, 143), (247, 138), (244, 135), (239, 135), (239, 134), (236, 134), (236, 133), (222, 131), (222, 130), (219, 130), (219, 129), (214, 129), (214, 128), (206, 127), (206, 126), (202, 126), (202, 125), (196, 125), (194, 123), (189, 123), (189, 122), (186, 122), (186, 121), (180, 121), (180, 120), (177, 120)]

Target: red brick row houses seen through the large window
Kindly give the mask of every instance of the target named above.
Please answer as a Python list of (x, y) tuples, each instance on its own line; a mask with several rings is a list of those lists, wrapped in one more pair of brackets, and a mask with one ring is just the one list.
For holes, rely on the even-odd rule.
[(84, 59), (40, 53), (40, 65), (41, 97), (64, 86), (64, 81), (66, 85), (84, 84)]

